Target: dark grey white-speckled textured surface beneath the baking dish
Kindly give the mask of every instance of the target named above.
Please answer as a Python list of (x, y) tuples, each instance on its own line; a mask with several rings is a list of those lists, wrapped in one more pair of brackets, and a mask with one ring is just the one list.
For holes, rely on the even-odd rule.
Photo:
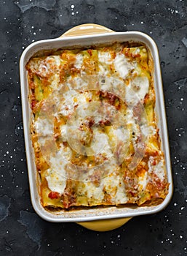
[[(19, 59), (31, 42), (81, 23), (143, 31), (160, 53), (175, 191), (159, 214), (135, 217), (107, 233), (49, 223), (31, 206), (23, 140)], [(0, 255), (187, 254), (187, 2), (0, 1)]]

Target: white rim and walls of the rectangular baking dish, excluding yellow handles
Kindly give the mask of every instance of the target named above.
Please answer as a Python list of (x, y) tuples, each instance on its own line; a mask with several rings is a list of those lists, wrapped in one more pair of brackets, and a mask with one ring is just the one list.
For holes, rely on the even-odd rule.
[[(77, 48), (89, 45), (111, 44), (113, 42), (142, 42), (146, 45), (154, 60), (154, 86), (156, 92), (156, 117), (158, 119), (159, 135), (162, 140), (167, 178), (170, 183), (169, 192), (165, 200), (157, 206), (123, 206), (105, 208), (82, 208), (71, 211), (47, 211), (41, 206), (39, 190), (37, 187), (37, 172), (30, 137), (31, 110), (28, 102), (28, 81), (25, 64), (36, 52), (41, 50), (55, 50), (58, 48)], [(97, 219), (130, 218), (138, 215), (155, 214), (162, 211), (172, 197), (172, 172), (170, 165), (170, 150), (167, 135), (167, 121), (164, 110), (164, 97), (162, 91), (162, 78), (159, 64), (159, 53), (151, 37), (138, 31), (108, 32), (107, 34), (93, 34), (57, 39), (46, 39), (34, 42), (26, 48), (20, 59), (20, 82), (23, 108), (23, 127), (25, 135), (25, 151), (28, 164), (28, 178), (31, 190), (31, 202), (39, 216), (50, 222), (85, 222)]]

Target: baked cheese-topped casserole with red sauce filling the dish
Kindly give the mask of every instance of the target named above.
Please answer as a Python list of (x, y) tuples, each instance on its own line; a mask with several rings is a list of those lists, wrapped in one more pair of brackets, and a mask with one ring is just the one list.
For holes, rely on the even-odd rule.
[(146, 45), (47, 50), (26, 69), (42, 206), (162, 203), (169, 184)]

